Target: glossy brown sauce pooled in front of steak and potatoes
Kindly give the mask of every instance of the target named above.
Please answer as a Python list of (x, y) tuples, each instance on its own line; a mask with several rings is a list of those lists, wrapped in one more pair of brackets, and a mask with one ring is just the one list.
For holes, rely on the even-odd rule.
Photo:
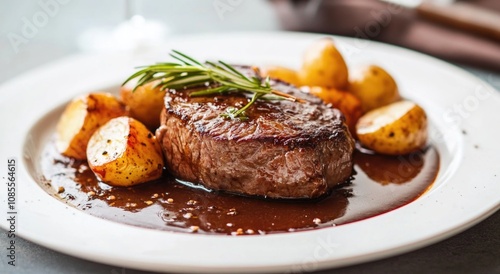
[[(439, 170), (434, 147), (388, 157), (357, 150), (350, 182), (315, 200), (269, 200), (209, 192), (163, 178), (129, 188), (99, 182), (86, 162), (47, 143), (42, 154), (47, 192), (91, 215), (158, 230), (264, 234), (331, 227), (377, 216), (423, 194)], [(59, 192), (59, 193), (58, 193)]]

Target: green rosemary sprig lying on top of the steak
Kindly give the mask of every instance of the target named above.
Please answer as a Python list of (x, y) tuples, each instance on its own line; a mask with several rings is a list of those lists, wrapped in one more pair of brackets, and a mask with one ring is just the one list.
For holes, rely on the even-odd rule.
[(134, 90), (146, 83), (159, 81), (156, 87), (161, 90), (176, 89), (183, 90), (203, 85), (215, 87), (192, 92), (190, 96), (214, 96), (228, 92), (250, 93), (250, 101), (241, 108), (229, 107), (223, 114), (227, 118), (247, 119), (245, 110), (259, 99), (268, 100), (289, 100), (293, 102), (304, 102), (304, 100), (290, 94), (275, 90), (271, 87), (269, 78), (264, 81), (257, 77), (247, 77), (233, 66), (218, 61), (217, 63), (201, 63), (186, 54), (172, 50), (170, 56), (179, 63), (157, 63), (143, 66), (136, 73), (132, 74), (123, 85), (138, 78)]

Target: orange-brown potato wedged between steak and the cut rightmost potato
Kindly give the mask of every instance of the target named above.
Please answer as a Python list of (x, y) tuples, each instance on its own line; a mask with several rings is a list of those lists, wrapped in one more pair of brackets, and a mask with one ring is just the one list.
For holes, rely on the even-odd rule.
[(349, 126), (349, 131), (355, 135), (356, 123), (361, 115), (363, 115), (361, 102), (356, 96), (349, 92), (323, 87), (310, 87), (309, 93), (321, 98), (326, 104), (332, 104), (334, 108), (342, 111)]

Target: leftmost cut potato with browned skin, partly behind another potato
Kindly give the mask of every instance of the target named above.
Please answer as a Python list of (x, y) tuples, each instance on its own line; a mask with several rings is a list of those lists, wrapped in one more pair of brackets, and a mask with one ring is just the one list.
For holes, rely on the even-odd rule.
[(111, 118), (126, 115), (127, 110), (109, 93), (90, 93), (71, 101), (56, 128), (56, 147), (68, 157), (84, 160), (90, 136)]

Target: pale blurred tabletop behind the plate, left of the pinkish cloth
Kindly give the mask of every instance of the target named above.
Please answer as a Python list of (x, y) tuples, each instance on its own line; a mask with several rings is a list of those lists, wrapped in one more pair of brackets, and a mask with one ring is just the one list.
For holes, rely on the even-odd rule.
[(0, 83), (73, 53), (128, 50), (134, 34), (154, 46), (179, 35), (278, 28), (268, 1), (0, 0)]

